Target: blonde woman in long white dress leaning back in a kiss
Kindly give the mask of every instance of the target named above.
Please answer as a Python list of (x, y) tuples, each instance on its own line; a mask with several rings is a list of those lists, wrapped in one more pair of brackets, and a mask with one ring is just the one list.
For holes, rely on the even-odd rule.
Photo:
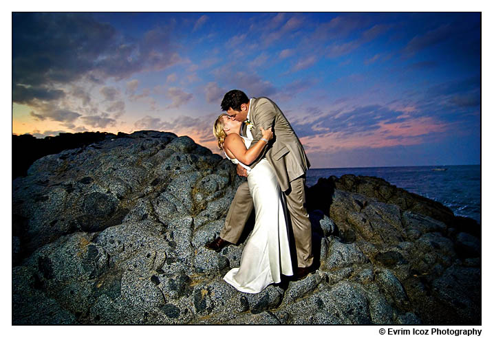
[[(268, 160), (261, 159), (250, 168), (272, 139), (271, 128), (261, 128), (262, 138), (250, 147), (251, 140), (240, 136), (242, 122), (219, 115), (213, 127), (218, 146), (234, 164), (248, 172), (247, 183), (255, 208), (255, 226), (248, 239), (240, 267), (231, 269), (224, 280), (239, 291), (259, 293), (272, 283), (281, 282), (281, 274), (293, 275), (283, 194)], [(250, 147), (250, 148), (249, 148)]]

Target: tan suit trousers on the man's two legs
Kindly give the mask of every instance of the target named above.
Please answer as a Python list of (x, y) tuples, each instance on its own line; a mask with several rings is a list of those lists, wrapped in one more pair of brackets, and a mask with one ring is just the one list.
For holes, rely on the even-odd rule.
[[(290, 182), (288, 193), (285, 192), (286, 204), (290, 213), (295, 247), (297, 248), (297, 267), (312, 265), (312, 227), (309, 214), (305, 209), (305, 176)], [(219, 237), (237, 244), (254, 203), (247, 182), (241, 183), (226, 214), (225, 225)]]

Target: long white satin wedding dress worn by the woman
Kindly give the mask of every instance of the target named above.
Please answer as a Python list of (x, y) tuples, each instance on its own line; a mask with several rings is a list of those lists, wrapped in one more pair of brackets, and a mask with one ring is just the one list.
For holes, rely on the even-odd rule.
[[(250, 139), (242, 138), (248, 148)], [(241, 164), (237, 159), (230, 160)], [(240, 267), (228, 271), (223, 279), (239, 291), (259, 293), (269, 284), (281, 282), (281, 274), (293, 275), (285, 204), (276, 174), (267, 159), (261, 159), (252, 170), (244, 164), (241, 166), (248, 170), (255, 225), (244, 247)]]

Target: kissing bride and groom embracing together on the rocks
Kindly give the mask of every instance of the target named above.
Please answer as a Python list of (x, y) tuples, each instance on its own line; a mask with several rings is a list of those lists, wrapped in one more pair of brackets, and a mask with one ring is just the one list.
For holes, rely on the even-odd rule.
[[(259, 293), (269, 284), (281, 282), (281, 274), (301, 280), (314, 269), (304, 191), (310, 163), (300, 140), (277, 104), (268, 98), (249, 99), (243, 91), (232, 90), (224, 95), (221, 106), (226, 113), (217, 118), (213, 134), (226, 157), (237, 164), (237, 174), (247, 181), (239, 185), (219, 237), (206, 248), (219, 252), (237, 244), (255, 209), (254, 229), (240, 267), (228, 271), (224, 280), (245, 293)], [(296, 265), (290, 255), (290, 224)]]

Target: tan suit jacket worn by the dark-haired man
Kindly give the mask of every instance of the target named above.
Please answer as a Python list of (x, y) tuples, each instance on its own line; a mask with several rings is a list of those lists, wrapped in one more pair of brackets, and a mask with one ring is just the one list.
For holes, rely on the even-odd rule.
[[(290, 188), (290, 182), (301, 177), (310, 167), (299, 137), (295, 134), (279, 107), (268, 98), (253, 98), (250, 101), (249, 120), (253, 124), (252, 145), (262, 137), (261, 128), (272, 127), (273, 139), (250, 166), (253, 167), (263, 157), (275, 170), (281, 190)], [(244, 135), (246, 124), (244, 124)], [(251, 146), (252, 146), (251, 145)]]

